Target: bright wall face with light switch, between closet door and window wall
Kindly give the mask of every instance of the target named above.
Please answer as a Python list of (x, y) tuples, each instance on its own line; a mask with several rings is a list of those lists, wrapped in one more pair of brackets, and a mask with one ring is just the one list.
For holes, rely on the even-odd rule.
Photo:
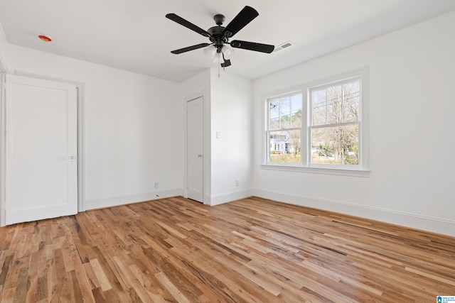
[(216, 205), (252, 195), (252, 82), (223, 71), (218, 77), (215, 69), (210, 79), (211, 205)]

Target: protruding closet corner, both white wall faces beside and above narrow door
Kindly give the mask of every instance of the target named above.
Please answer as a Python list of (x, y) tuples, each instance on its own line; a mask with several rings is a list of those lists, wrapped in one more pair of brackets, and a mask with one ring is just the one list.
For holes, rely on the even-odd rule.
[(204, 203), (250, 197), (252, 82), (228, 72), (218, 77), (218, 70), (210, 69), (181, 85), (183, 101), (204, 97)]

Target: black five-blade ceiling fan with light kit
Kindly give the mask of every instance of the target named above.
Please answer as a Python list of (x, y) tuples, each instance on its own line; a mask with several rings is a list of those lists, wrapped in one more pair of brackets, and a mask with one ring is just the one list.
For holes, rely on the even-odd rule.
[(200, 43), (192, 46), (188, 46), (187, 48), (180, 48), (178, 50), (172, 50), (171, 53), (173, 54), (181, 54), (186, 53), (190, 50), (197, 50), (198, 48), (205, 48), (207, 46), (213, 45), (216, 49), (216, 53), (221, 54), (223, 56), (223, 63), (221, 63), (222, 67), (230, 66), (230, 60), (225, 59), (225, 54), (223, 53), (223, 47), (225, 44), (229, 44), (232, 48), (241, 48), (243, 50), (254, 50), (256, 52), (261, 53), (272, 53), (274, 50), (274, 45), (269, 44), (262, 44), (262, 43), (255, 43), (249, 41), (242, 41), (242, 40), (232, 40), (229, 42), (229, 39), (232, 38), (238, 31), (244, 28), (248, 23), (250, 23), (254, 18), (259, 16), (259, 13), (250, 6), (245, 6), (240, 13), (235, 16), (235, 18), (230, 21), (228, 26), (224, 27), (223, 22), (225, 21), (225, 16), (218, 14), (213, 16), (213, 20), (216, 23), (216, 26), (209, 28), (207, 31), (203, 30), (202, 28), (194, 25), (193, 23), (186, 21), (185, 19), (177, 16), (175, 13), (168, 13), (166, 18), (175, 21), (186, 28), (191, 29), (191, 31), (195, 31), (204, 37), (210, 39), (211, 43)]

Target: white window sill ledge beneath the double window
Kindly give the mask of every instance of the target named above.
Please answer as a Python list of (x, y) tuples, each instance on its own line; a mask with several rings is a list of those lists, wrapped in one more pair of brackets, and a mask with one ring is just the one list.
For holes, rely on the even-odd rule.
[(285, 172), (304, 172), (320, 175), (338, 175), (348, 177), (369, 177), (370, 170), (348, 170), (345, 168), (304, 167), (291, 165), (260, 165), (262, 170), (281, 170)]

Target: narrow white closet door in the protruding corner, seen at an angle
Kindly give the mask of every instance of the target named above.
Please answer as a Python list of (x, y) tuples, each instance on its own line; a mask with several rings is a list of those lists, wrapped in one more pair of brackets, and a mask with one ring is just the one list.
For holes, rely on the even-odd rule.
[(203, 203), (203, 98), (187, 103), (187, 192)]

